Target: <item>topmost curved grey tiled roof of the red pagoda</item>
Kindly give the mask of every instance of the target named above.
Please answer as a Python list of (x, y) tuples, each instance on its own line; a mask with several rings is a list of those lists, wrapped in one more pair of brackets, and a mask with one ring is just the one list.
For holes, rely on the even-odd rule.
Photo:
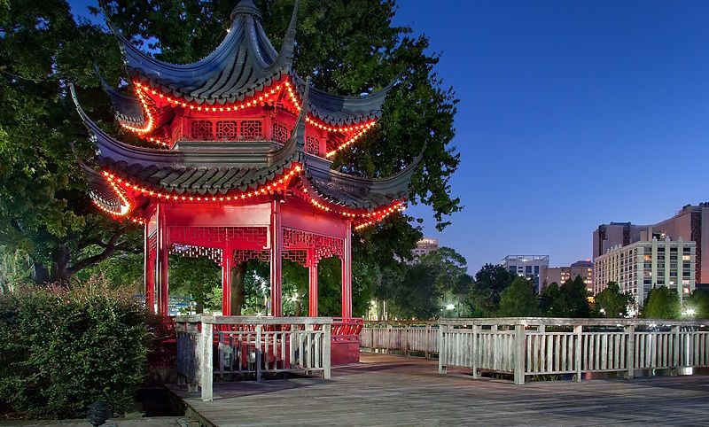
[[(251, 0), (242, 0), (232, 12), (232, 24), (222, 43), (206, 58), (184, 65), (149, 57), (123, 37), (109, 22), (121, 42), (129, 73), (160, 86), (176, 97), (198, 104), (223, 105), (263, 91), (290, 75), (299, 95), (305, 81), (292, 70), (298, 2), (281, 50), (271, 45), (261, 26), (261, 13)], [(106, 14), (107, 16), (107, 14)], [(343, 97), (312, 89), (308, 113), (331, 125), (348, 125), (378, 118), (393, 82), (364, 97)]]

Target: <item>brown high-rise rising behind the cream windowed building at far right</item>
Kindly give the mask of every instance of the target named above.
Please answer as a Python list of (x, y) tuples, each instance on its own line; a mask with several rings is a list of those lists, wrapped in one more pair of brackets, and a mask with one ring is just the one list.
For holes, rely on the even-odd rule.
[[(687, 205), (665, 221), (652, 225), (635, 225), (631, 222), (611, 222), (598, 227), (593, 233), (593, 258), (603, 255), (615, 246), (635, 242), (650, 242), (653, 237), (697, 243), (695, 277), (697, 284), (709, 283), (709, 203)], [(706, 258), (706, 260), (704, 260)]]

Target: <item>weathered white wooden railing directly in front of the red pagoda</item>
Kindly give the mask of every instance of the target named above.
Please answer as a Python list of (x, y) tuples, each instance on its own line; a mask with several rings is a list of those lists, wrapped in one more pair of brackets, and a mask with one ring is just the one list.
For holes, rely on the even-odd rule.
[(330, 317), (175, 317), (178, 384), (212, 400), (214, 377), (267, 372), (321, 373), (330, 378)]

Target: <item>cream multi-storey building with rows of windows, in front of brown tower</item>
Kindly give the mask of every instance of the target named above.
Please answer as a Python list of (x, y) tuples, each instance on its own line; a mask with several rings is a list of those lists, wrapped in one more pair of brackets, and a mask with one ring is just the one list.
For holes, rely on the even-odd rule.
[(619, 284), (642, 305), (653, 286), (666, 286), (685, 298), (695, 288), (697, 245), (669, 237), (615, 245), (594, 259), (594, 294), (608, 282)]

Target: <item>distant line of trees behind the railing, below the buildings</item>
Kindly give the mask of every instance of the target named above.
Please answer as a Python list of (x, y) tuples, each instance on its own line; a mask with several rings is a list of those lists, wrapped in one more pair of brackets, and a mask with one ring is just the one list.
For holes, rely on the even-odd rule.
[(603, 291), (590, 298), (587, 283), (576, 276), (565, 283), (545, 283), (537, 293), (530, 279), (510, 273), (503, 266), (486, 264), (475, 276), (469, 276), (466, 264), (464, 257), (453, 249), (440, 248), (402, 268), (400, 276), (384, 278), (376, 298), (386, 301), (390, 319), (709, 317), (709, 291), (702, 289), (687, 295), (682, 304), (676, 291), (665, 286), (653, 287), (638, 313), (635, 298), (621, 291), (618, 283), (607, 283)]

